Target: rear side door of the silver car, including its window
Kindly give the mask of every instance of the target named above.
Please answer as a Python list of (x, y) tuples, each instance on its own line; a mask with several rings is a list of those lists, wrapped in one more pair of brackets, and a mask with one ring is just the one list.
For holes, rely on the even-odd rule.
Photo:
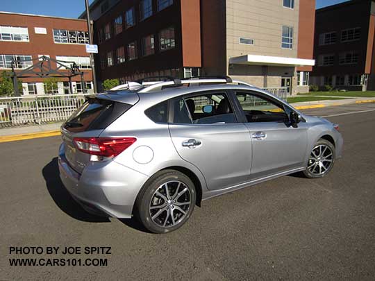
[(169, 108), (169, 130), (176, 151), (203, 173), (208, 189), (223, 189), (249, 179), (251, 137), (247, 126), (238, 123), (226, 92), (182, 96), (170, 101)]

